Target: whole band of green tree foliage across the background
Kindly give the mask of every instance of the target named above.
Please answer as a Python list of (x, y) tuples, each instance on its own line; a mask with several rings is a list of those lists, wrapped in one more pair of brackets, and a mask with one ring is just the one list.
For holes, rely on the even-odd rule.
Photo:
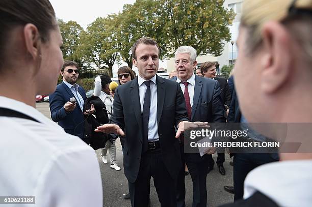
[[(64, 59), (83, 62), (93, 69), (107, 69), (115, 62), (132, 68), (131, 48), (143, 36), (161, 48), (160, 58), (172, 57), (182, 45), (198, 55), (219, 56), (230, 40), (228, 25), (235, 14), (223, 8), (224, 0), (137, 0), (123, 11), (97, 18), (86, 31), (76, 22), (59, 20), (64, 39)], [(64, 33), (64, 34), (63, 34)]]

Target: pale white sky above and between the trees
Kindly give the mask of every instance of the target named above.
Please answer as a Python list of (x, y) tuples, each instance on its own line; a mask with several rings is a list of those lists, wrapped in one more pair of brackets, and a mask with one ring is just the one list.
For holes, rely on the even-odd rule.
[[(133, 4), (135, 0), (50, 0), (56, 16), (64, 21), (76, 21), (84, 29), (97, 17), (107, 17), (109, 14), (122, 12), (123, 5)], [(119, 67), (127, 65), (123, 63)], [(167, 67), (166, 62), (160, 61), (159, 67)], [(114, 65), (113, 72), (117, 72), (118, 65)]]

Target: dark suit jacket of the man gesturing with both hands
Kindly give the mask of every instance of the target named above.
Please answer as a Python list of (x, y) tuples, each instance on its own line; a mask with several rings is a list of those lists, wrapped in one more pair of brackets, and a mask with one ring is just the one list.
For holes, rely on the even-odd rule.
[[(175, 179), (182, 164), (174, 127), (181, 121), (188, 121), (188, 113), (183, 93), (176, 82), (156, 76), (156, 83), (161, 153), (168, 172)], [(134, 183), (139, 172), (143, 143), (138, 78), (116, 88), (110, 122), (125, 132), (124, 173), (128, 181)]]

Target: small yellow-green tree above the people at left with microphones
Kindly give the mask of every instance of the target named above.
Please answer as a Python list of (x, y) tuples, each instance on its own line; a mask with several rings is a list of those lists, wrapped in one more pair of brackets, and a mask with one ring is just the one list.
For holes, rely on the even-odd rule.
[(118, 60), (116, 29), (112, 25), (113, 17), (98, 17), (92, 22), (86, 32), (81, 33), (77, 51), (85, 58), (94, 70), (107, 69), (113, 75), (113, 65)]

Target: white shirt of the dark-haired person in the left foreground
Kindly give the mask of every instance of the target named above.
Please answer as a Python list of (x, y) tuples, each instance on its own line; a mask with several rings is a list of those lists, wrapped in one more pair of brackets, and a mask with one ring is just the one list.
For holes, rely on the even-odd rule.
[(1, 196), (35, 196), (36, 204), (22, 204), (29, 207), (102, 206), (99, 164), (90, 146), (32, 106), (0, 96), (0, 107), (40, 122), (0, 116)]

